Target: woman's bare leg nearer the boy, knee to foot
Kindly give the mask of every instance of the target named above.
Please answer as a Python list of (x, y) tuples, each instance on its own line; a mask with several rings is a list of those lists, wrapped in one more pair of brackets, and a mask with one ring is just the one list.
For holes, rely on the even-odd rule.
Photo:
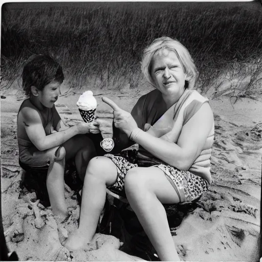
[(117, 167), (110, 159), (96, 157), (90, 160), (84, 177), (79, 226), (65, 242), (67, 249), (83, 249), (91, 242), (104, 207), (106, 186), (113, 185), (116, 179)]

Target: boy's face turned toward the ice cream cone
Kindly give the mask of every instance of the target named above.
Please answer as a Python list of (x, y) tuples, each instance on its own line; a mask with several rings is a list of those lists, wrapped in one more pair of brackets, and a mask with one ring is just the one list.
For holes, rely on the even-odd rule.
[(42, 105), (52, 108), (60, 93), (61, 83), (52, 81), (38, 92), (38, 99)]

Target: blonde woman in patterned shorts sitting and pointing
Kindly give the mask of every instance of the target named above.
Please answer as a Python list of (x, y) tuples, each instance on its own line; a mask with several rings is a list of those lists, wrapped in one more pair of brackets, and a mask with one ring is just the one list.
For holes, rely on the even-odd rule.
[(113, 107), (115, 127), (125, 133), (120, 141), (135, 144), (121, 155), (90, 161), (79, 227), (65, 247), (82, 249), (91, 242), (109, 187), (125, 191), (159, 258), (180, 261), (162, 204), (197, 200), (211, 183), (213, 114), (208, 100), (189, 89), (197, 70), (177, 40), (153, 41), (144, 51), (142, 71), (156, 90), (142, 96), (131, 114), (102, 98)]

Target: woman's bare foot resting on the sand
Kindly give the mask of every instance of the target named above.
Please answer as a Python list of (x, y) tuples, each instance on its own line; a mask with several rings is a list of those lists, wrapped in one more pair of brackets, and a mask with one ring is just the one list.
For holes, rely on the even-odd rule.
[(86, 239), (85, 236), (76, 231), (68, 237), (63, 246), (69, 251), (84, 250), (88, 248), (91, 241), (92, 239)]

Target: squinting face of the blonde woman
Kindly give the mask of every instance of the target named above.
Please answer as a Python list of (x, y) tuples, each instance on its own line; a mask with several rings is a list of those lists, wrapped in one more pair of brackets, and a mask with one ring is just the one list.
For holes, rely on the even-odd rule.
[(164, 49), (152, 58), (151, 76), (165, 96), (180, 97), (185, 91), (186, 74), (172, 51)]

